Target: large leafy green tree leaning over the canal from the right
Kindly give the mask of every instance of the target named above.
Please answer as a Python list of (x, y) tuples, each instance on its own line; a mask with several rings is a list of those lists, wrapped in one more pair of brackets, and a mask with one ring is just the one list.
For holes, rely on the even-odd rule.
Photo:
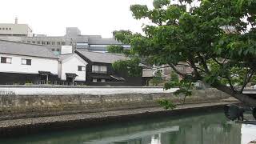
[[(144, 34), (120, 30), (114, 38), (150, 64), (168, 64), (182, 76), (166, 89), (180, 86), (179, 92), (190, 94), (191, 83), (201, 80), (256, 106), (256, 98), (242, 94), (256, 70), (255, 0), (154, 0), (153, 9), (133, 5), (130, 10), (135, 19), (150, 20)], [(178, 70), (179, 62), (193, 73)]]

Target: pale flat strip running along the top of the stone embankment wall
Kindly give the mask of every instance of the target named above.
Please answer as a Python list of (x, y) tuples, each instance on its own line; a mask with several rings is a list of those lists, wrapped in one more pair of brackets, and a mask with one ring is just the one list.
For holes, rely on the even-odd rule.
[(173, 93), (178, 88), (164, 90), (162, 87), (135, 87), (135, 86), (48, 86), (48, 87), (30, 87), (30, 86), (0, 86), (1, 94), (20, 94), (20, 95), (70, 95), (70, 94), (154, 94), (154, 93)]

